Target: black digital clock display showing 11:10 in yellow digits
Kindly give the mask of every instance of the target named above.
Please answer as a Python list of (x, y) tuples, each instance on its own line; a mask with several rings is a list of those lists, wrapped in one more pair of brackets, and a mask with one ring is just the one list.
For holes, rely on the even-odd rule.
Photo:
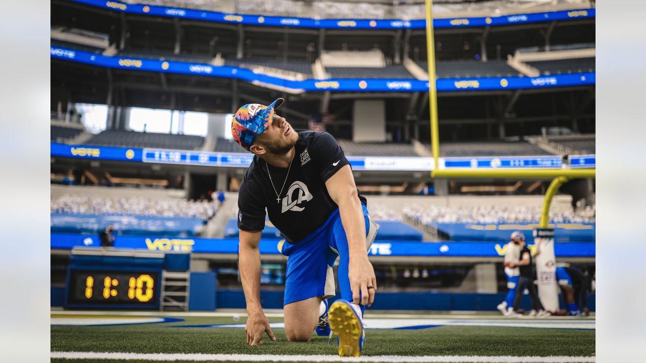
[(156, 271), (83, 271), (69, 276), (68, 304), (151, 306), (159, 303)]

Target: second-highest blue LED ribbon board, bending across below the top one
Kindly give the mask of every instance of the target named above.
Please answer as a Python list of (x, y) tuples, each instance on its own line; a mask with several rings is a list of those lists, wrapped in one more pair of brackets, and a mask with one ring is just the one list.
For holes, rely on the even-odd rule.
[[(215, 66), (206, 63), (182, 61), (160, 61), (158, 59), (103, 56), (65, 47), (50, 46), (50, 57), (94, 65), (97, 67), (143, 70), (147, 72), (167, 72), (174, 74), (192, 74), (198, 76), (234, 78), (249, 83), (264, 83), (292, 90), (316, 92), (428, 92), (428, 81), (419, 79), (304, 79), (289, 80), (265, 74), (254, 73), (247, 68), (228, 65)], [(506, 90), (548, 87), (572, 87), (594, 85), (595, 72), (573, 74), (554, 74), (539, 77), (486, 77), (486, 78), (451, 78), (437, 79), (435, 85), (439, 92), (468, 90)]]

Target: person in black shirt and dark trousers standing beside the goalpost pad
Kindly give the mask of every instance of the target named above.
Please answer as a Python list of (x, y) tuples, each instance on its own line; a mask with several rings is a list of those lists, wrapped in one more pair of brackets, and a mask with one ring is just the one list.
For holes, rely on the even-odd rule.
[(525, 243), (525, 235), (519, 233), (519, 238), (516, 238), (514, 243), (521, 249), (520, 261), (505, 262), (505, 265), (512, 268), (518, 267), (521, 275), (516, 287), (516, 299), (514, 299), (513, 315), (510, 316), (521, 316), (517, 311), (521, 305), (521, 301), (523, 300), (523, 291), (525, 291), (525, 289), (529, 291), (529, 296), (532, 299), (532, 312), (530, 315), (545, 316), (547, 313), (543, 310), (543, 304), (541, 304), (541, 300), (538, 298), (538, 294), (536, 293), (536, 286), (534, 286), (534, 265), (532, 265), (532, 253)]

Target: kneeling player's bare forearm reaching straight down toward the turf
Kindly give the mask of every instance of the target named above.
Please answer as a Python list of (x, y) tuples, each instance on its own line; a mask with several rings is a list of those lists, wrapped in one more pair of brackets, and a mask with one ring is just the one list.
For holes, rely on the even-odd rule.
[(251, 247), (240, 247), (240, 280), (247, 301), (247, 312), (262, 311), (260, 306), (260, 250)]

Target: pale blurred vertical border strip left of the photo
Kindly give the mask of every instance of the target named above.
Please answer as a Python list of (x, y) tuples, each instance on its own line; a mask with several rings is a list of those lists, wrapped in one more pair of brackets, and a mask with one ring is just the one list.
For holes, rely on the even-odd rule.
[(50, 360), (50, 3), (5, 1), (0, 21), (0, 351)]

